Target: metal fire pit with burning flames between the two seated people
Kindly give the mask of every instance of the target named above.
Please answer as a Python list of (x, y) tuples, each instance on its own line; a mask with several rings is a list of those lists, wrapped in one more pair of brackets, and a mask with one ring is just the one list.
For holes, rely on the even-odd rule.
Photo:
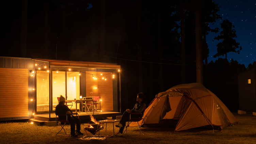
[[(87, 137), (89, 137), (89, 138), (100, 137), (100, 130), (102, 130), (104, 128), (104, 123), (94, 123), (91, 121), (90, 123), (84, 124), (83, 127), (84, 127), (84, 131), (87, 134)], [(92, 135), (89, 133), (91, 135), (91, 136), (89, 136), (87, 131), (90, 132)], [(97, 134), (97, 132), (99, 132), (99, 133)]]

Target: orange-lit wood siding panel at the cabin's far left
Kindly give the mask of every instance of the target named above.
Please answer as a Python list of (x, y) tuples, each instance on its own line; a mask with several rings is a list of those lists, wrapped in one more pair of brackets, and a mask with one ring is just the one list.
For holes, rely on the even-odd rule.
[(0, 68), (0, 118), (28, 116), (28, 69)]

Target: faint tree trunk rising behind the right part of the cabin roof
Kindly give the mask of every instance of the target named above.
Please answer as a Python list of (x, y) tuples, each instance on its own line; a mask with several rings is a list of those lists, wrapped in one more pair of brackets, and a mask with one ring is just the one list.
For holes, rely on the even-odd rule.
[(106, 0), (100, 5), (100, 60), (106, 62)]

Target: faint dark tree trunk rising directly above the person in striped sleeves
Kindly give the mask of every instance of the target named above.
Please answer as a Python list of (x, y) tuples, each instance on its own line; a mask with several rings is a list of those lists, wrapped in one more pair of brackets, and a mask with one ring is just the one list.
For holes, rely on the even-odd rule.
[(142, 62), (141, 62), (141, 47), (140, 47), (140, 0), (137, 0), (137, 41), (138, 41), (138, 73), (139, 73), (139, 92), (143, 92), (142, 81)]

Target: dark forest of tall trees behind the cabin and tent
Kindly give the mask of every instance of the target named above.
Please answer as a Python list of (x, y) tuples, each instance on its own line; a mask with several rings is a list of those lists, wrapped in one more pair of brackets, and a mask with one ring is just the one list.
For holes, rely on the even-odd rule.
[[(196, 82), (195, 11), (200, 9), (203, 85), (230, 111), (239, 109), (237, 74), (252, 68), (253, 64), (245, 67), (227, 57), (207, 61), (208, 33), (223, 32), (212, 39), (220, 42), (215, 57), (242, 50), (234, 40), (235, 26), (227, 19), (223, 20), (221, 29), (213, 28), (214, 22), (222, 17), (220, 6), (211, 0), (14, 0), (1, 3), (4, 15), (0, 23), (0, 56), (121, 65), (122, 111), (133, 107), (140, 92), (146, 95), (148, 105), (159, 92)], [(181, 13), (184, 24), (180, 23)], [(184, 53), (181, 52), (182, 26)], [(223, 38), (223, 35), (229, 36)], [(222, 43), (224, 40), (229, 43)]]

